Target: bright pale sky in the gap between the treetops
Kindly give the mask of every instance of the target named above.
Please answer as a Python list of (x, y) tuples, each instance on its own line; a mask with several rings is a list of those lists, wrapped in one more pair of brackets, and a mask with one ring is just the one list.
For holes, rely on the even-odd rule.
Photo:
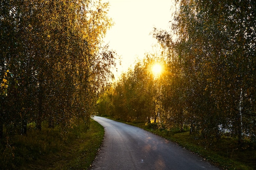
[(150, 35), (153, 28), (168, 29), (173, 0), (107, 0), (109, 16), (115, 25), (107, 32), (105, 42), (121, 56), (115, 77), (126, 72), (137, 59), (152, 49), (157, 41)]

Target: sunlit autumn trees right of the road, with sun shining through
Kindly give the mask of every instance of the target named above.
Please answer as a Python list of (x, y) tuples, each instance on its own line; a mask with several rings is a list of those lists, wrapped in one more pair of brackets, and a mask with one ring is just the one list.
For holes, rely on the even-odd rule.
[[(222, 137), (256, 142), (256, 4), (177, 0), (162, 51), (142, 61), (98, 100), (99, 115), (160, 129), (189, 129), (207, 145)], [(171, 18), (171, 17), (170, 17)], [(162, 71), (154, 74), (155, 64)]]

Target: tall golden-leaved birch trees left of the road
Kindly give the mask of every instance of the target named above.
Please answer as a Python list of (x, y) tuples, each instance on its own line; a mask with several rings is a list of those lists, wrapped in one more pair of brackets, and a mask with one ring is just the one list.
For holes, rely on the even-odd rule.
[(0, 138), (27, 125), (62, 132), (88, 124), (115, 52), (102, 45), (108, 4), (84, 0), (0, 2)]

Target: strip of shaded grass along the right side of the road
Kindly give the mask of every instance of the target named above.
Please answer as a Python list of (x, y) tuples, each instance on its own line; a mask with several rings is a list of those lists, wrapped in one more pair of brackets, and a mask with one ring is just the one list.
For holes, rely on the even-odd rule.
[(222, 137), (209, 145), (205, 144), (207, 139), (189, 135), (189, 131), (160, 130), (151, 128), (147, 124), (133, 125), (173, 141), (223, 170), (256, 170), (255, 144), (251, 146), (246, 144), (247, 147), (238, 149), (234, 139)]

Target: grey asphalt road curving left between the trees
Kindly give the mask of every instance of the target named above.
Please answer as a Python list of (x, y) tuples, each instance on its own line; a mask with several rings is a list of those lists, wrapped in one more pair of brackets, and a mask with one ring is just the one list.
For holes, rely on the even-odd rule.
[(220, 170), (184, 148), (146, 130), (94, 117), (105, 137), (93, 170)]

